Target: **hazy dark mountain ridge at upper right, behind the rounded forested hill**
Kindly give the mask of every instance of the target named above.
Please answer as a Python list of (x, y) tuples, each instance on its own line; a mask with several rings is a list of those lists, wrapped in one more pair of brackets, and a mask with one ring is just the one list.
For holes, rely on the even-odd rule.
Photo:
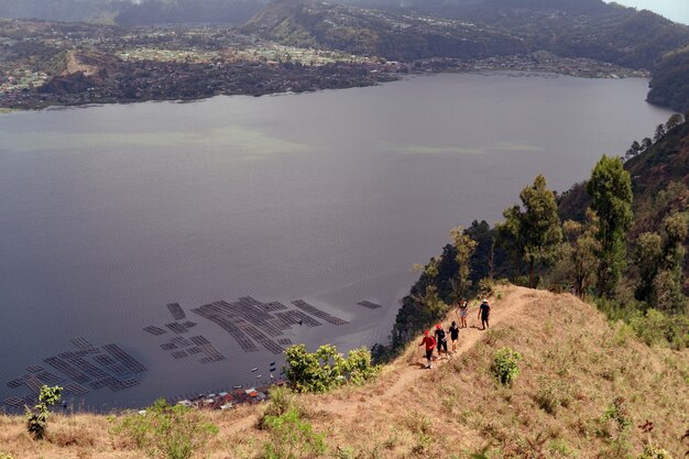
[(522, 36), (533, 48), (633, 68), (652, 69), (663, 54), (689, 44), (689, 26), (602, 0), (344, 1), (479, 22)]

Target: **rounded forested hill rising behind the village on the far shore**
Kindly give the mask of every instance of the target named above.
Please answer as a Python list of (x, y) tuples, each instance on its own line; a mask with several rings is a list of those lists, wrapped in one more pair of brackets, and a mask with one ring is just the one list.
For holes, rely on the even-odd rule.
[(522, 39), (491, 26), (315, 0), (274, 1), (241, 30), (294, 46), (326, 46), (394, 61), (526, 51)]

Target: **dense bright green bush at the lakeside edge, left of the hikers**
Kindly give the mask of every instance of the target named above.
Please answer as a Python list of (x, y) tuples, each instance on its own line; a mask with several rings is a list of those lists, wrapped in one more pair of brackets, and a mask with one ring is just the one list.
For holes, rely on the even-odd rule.
[(374, 378), (380, 368), (371, 364), (371, 352), (352, 349), (344, 359), (332, 345), (324, 345), (309, 353), (304, 345), (285, 350), (285, 375), (296, 392), (327, 392), (346, 383), (361, 385)]

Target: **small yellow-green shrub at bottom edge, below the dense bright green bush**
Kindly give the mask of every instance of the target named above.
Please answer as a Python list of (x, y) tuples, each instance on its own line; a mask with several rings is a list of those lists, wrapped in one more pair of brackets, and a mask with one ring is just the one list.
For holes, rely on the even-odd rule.
[(319, 457), (327, 449), (325, 435), (316, 434), (295, 407), (280, 416), (265, 416), (263, 424), (270, 431), (270, 439), (263, 444), (263, 459)]

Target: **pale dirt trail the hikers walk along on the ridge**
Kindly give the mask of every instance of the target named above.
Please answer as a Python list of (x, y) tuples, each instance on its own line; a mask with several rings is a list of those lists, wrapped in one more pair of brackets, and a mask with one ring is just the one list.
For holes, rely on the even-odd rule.
[[(544, 292), (544, 294), (546, 294)], [(491, 327), (499, 326), (508, 321), (510, 317), (518, 314), (528, 303), (533, 302), (538, 296), (538, 292), (516, 286), (508, 286), (503, 291), (502, 299), (491, 299)], [(470, 308), (467, 323), (469, 328), (460, 330), (459, 345), (457, 347), (458, 356), (467, 352), (471, 349), (483, 336), (485, 331), (482, 331), (478, 325), (480, 320), (477, 320), (477, 307)], [(459, 317), (455, 312), (444, 320), (444, 326), (447, 330), (449, 324), (456, 320), (459, 323)], [(418, 340), (415, 340), (418, 345)], [(414, 387), (417, 381), (422, 378), (427, 378), (437, 371), (438, 368), (445, 365), (450, 360), (440, 360), (434, 362), (433, 370), (424, 369), (425, 357), (422, 359), (422, 351), (417, 349), (417, 346), (412, 343), (403, 356), (397, 358), (394, 362), (389, 364), (389, 370), (381, 375), (372, 384), (368, 384), (363, 387), (353, 390), (344, 397), (338, 394), (324, 395), (324, 396), (309, 396), (308, 407), (314, 411), (327, 412), (336, 415), (340, 418), (356, 417), (358, 412), (362, 408), (361, 402), (365, 403), (367, 409), (375, 409), (378, 406), (391, 406), (395, 404), (398, 395)], [(448, 343), (451, 347), (451, 343)], [(245, 428), (250, 428), (255, 425), (258, 416), (252, 414), (250, 416), (237, 419), (228, 430), (240, 431)]]

